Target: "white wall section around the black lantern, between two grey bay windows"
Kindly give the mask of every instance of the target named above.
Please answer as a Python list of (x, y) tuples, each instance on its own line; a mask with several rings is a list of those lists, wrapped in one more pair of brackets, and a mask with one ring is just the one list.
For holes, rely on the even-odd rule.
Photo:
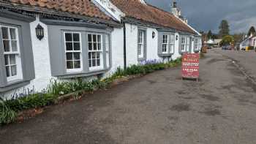
[[(45, 30), (45, 37), (42, 40), (37, 39), (36, 36), (36, 27), (40, 24)], [(24, 89), (34, 89), (34, 91), (42, 91), (44, 88), (48, 87), (50, 82), (51, 73), (50, 73), (50, 53), (48, 45), (48, 28), (44, 23), (37, 20), (30, 23), (31, 27), (31, 43), (34, 56), (34, 70), (35, 70), (35, 79), (31, 80), (31, 83), (22, 88), (17, 88), (12, 91), (7, 91), (4, 96), (10, 98), (13, 94), (24, 93)]]

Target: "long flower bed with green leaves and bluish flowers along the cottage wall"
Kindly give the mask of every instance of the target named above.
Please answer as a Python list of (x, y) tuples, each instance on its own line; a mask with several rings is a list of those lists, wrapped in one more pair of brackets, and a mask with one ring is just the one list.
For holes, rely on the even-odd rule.
[(104, 80), (91, 80), (89, 82), (82, 79), (74, 79), (70, 82), (54, 80), (50, 82), (47, 91), (43, 93), (12, 97), (12, 99), (8, 100), (0, 99), (0, 124), (10, 124), (16, 121), (19, 115), (23, 115), (22, 112), (24, 110), (37, 111), (37, 109), (58, 104), (64, 100), (79, 99), (85, 92), (107, 88), (107, 86), (116, 83), (116, 80), (129, 80), (131, 78), (130, 75), (146, 75), (159, 69), (176, 67), (180, 64), (181, 58), (167, 63), (157, 60), (142, 61), (141, 64), (132, 65), (127, 69), (118, 68), (116, 73)]

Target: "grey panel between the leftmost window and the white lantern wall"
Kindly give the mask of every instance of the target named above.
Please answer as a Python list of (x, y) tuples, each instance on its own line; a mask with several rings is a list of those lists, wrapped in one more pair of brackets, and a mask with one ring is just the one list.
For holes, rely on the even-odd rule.
[(34, 74), (34, 56), (31, 45), (31, 34), (29, 23), (18, 28), (20, 39), (20, 57), (23, 70), (23, 80), (33, 80)]

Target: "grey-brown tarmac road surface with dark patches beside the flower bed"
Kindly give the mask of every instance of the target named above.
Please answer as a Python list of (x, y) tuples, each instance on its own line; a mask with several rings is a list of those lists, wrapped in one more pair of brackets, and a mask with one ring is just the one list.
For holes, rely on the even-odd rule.
[(255, 144), (255, 85), (223, 53), (200, 59), (199, 82), (154, 72), (3, 126), (0, 143)]

